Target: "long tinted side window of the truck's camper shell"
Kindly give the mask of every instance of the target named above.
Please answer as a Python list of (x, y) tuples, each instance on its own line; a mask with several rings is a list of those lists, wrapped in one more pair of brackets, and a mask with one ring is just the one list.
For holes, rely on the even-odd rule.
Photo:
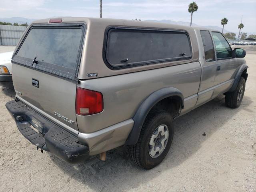
[(106, 60), (112, 67), (180, 60), (192, 56), (185, 32), (112, 29), (108, 32)]

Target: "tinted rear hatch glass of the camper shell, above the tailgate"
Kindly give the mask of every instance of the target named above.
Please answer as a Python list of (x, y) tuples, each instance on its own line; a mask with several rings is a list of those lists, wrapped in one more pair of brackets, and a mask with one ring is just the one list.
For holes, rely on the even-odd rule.
[(80, 27), (32, 28), (15, 59), (35, 68), (74, 77), (81, 47), (83, 29)]

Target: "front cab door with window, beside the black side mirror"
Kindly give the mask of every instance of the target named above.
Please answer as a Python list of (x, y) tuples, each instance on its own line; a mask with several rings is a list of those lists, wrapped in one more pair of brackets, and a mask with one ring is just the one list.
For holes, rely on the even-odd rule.
[(232, 48), (220, 32), (212, 32), (214, 48), (216, 50), (216, 75), (214, 93), (216, 97), (228, 91), (234, 82), (234, 73), (238, 67), (236, 58), (233, 58)]

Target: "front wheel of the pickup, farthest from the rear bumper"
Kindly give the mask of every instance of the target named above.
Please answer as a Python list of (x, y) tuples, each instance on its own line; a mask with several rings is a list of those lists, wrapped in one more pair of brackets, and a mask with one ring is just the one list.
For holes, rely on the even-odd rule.
[[(242, 93), (240, 92), (242, 90)], [(227, 107), (238, 108), (243, 100), (245, 90), (245, 79), (240, 78), (236, 90), (233, 92), (226, 92), (225, 103)], [(240, 95), (241, 94), (241, 95)], [(240, 97), (238, 97), (240, 95)]]

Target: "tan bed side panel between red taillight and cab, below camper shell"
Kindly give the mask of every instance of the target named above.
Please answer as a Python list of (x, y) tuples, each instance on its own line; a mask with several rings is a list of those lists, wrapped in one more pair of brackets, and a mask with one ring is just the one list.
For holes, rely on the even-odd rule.
[[(132, 118), (140, 103), (152, 92), (165, 87), (178, 88), (184, 98), (197, 95), (200, 85), (199, 62), (146, 70), (92, 80), (81, 80), (79, 87), (102, 92), (104, 110), (90, 116), (76, 115), (79, 131), (90, 133)], [(196, 97), (186, 100), (189, 110)]]

